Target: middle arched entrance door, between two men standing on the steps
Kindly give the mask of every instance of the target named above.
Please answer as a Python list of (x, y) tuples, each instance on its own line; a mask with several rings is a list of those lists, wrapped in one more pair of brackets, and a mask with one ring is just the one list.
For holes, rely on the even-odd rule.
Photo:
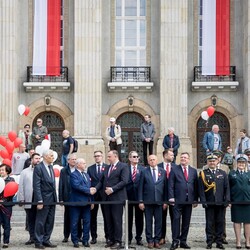
[(128, 162), (128, 154), (132, 150), (137, 151), (142, 160), (140, 128), (143, 121), (143, 116), (136, 112), (123, 113), (117, 118), (117, 124), (121, 126), (122, 130), (121, 159), (123, 162)]

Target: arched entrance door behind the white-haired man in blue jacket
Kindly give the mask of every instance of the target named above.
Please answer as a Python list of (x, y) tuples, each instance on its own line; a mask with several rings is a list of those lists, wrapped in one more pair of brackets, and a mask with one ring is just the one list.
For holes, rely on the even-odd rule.
[(230, 124), (225, 115), (215, 112), (208, 121), (201, 117), (197, 122), (197, 168), (206, 165), (206, 152), (203, 149), (202, 141), (204, 134), (212, 130), (212, 126), (217, 124), (220, 128), (219, 134), (222, 140), (222, 151), (226, 152), (227, 146), (230, 146)]

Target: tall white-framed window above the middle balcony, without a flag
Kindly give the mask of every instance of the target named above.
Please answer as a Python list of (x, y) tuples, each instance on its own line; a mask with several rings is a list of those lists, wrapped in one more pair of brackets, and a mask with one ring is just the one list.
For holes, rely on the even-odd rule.
[(146, 65), (146, 0), (116, 0), (116, 66)]

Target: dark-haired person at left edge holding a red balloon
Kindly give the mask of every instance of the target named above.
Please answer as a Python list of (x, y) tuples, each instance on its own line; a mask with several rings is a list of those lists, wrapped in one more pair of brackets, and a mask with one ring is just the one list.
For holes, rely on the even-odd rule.
[[(3, 248), (8, 248), (10, 241), (10, 218), (12, 215), (12, 205), (6, 205), (5, 202), (11, 202), (13, 196), (17, 192), (18, 185), (15, 183), (15, 179), (10, 177), (11, 167), (6, 164), (0, 165), (0, 175), (2, 178), (0, 181), (0, 201), (4, 202), (0, 204), (0, 224), (3, 225)], [(4, 180), (4, 184), (2, 182)], [(13, 183), (12, 183), (13, 182)], [(14, 184), (14, 185), (12, 185)]]

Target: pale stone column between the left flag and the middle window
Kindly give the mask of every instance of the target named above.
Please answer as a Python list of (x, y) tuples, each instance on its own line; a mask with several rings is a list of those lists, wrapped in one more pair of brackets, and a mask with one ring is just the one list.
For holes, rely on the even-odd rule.
[(74, 134), (84, 152), (103, 145), (101, 8), (102, 0), (74, 2)]

